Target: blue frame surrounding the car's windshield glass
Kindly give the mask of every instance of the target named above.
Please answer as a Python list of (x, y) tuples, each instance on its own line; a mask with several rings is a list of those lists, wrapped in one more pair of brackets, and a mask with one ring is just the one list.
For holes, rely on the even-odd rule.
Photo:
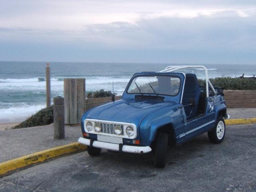
[[(180, 79), (179, 91), (177, 92), (176, 95), (169, 95), (169, 94), (162, 94), (162, 93), (157, 93), (157, 94), (155, 94), (155, 93), (129, 93), (129, 92), (128, 92), (128, 89), (130, 88), (130, 85), (132, 84), (134, 78), (137, 78), (137, 77), (146, 77), (146, 76), (153, 76), (153, 77), (154, 77), (154, 76), (166, 76), (166, 77), (179, 78), (179, 79)], [(180, 76), (176, 76), (176, 75), (173, 75), (173, 74), (170, 74), (170, 75), (168, 75), (168, 74), (157, 74), (157, 73), (138, 74), (138, 75), (133, 76), (133, 77), (130, 79), (128, 85), (126, 86), (125, 92), (126, 92), (126, 94), (129, 94), (129, 95), (142, 95), (142, 94), (143, 94), (143, 95), (164, 95), (164, 96), (175, 97), (175, 96), (177, 96), (178, 94), (180, 94), (180, 90), (181, 90), (181, 88), (182, 88), (181, 86), (182, 86), (182, 80), (181, 80)]]

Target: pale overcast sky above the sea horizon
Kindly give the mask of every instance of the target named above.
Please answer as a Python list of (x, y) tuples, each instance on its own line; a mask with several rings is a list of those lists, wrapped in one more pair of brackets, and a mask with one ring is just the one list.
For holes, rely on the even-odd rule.
[(256, 64), (256, 2), (0, 0), (0, 60)]

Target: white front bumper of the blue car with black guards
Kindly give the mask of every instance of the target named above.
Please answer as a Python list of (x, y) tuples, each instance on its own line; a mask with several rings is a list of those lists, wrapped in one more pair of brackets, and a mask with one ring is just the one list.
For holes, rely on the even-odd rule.
[(130, 145), (121, 145), (120, 144), (114, 144), (114, 143), (107, 143), (102, 141), (92, 141), (90, 139), (85, 139), (80, 137), (78, 139), (78, 142), (83, 145), (87, 146), (93, 146), (96, 148), (103, 148), (108, 149), (112, 151), (122, 151), (126, 153), (148, 153), (152, 149), (149, 146), (130, 146)]

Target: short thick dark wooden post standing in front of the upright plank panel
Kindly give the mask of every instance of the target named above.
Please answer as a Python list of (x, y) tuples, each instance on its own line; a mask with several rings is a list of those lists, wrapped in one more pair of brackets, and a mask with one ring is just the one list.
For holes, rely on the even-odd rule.
[(64, 98), (61, 96), (54, 97), (53, 104), (54, 139), (64, 139)]

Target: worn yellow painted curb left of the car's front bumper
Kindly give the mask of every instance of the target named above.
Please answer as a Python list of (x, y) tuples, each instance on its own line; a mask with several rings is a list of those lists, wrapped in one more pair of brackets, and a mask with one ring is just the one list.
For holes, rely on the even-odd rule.
[(20, 170), (33, 164), (38, 164), (52, 158), (77, 153), (86, 150), (86, 146), (78, 142), (70, 143), (67, 145), (46, 149), (43, 151), (35, 152), (26, 156), (0, 163), (0, 176), (9, 174), (11, 172)]

